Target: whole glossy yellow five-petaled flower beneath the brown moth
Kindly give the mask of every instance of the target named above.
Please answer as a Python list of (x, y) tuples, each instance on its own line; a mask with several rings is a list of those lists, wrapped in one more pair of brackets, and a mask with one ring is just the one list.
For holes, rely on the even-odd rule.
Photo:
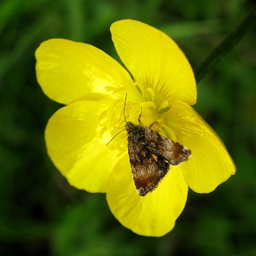
[[(172, 230), (187, 200), (188, 186), (209, 193), (235, 174), (224, 144), (189, 105), (196, 102), (192, 68), (163, 32), (136, 20), (111, 26), (113, 44), (127, 70), (101, 49), (50, 39), (36, 51), (37, 78), (44, 93), (67, 106), (49, 119), (49, 157), (70, 184), (106, 192), (113, 215), (143, 236)], [(133, 183), (124, 130), (125, 117), (137, 124), (157, 121), (161, 135), (192, 152), (152, 193), (139, 196)]]

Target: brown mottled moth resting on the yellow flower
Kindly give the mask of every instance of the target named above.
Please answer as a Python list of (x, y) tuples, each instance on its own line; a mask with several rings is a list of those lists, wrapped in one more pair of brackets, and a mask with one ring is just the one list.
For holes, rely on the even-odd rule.
[(161, 136), (145, 127), (138, 118), (139, 125), (126, 122), (128, 154), (133, 180), (139, 195), (148, 195), (157, 188), (170, 170), (189, 159), (191, 151), (180, 143)]

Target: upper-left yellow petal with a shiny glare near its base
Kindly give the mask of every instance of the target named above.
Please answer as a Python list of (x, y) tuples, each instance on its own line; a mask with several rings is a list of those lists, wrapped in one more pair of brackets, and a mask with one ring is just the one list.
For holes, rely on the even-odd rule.
[(69, 104), (112, 96), (109, 88), (131, 83), (117, 61), (90, 44), (50, 39), (36, 51), (38, 83), (55, 102)]

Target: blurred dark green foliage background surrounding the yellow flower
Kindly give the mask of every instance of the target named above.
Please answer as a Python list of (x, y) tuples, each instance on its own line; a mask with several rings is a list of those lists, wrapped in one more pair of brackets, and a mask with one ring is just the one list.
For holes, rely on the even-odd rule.
[[(237, 173), (209, 195), (189, 191), (166, 236), (143, 237), (113, 218), (105, 195), (69, 186), (46, 154), (57, 108), (35, 77), (48, 38), (93, 44), (117, 58), (109, 26), (131, 18), (159, 27), (198, 67), (253, 1), (2, 0), (0, 2), (1, 255), (256, 255), (255, 26), (198, 84), (195, 109), (233, 157)], [(253, 32), (254, 29), (254, 32)]]

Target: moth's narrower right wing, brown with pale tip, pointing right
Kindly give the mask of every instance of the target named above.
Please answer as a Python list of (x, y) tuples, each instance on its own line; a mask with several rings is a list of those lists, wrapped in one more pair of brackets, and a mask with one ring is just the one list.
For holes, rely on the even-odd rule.
[(147, 148), (150, 152), (162, 156), (172, 166), (177, 166), (189, 159), (191, 151), (182, 144), (161, 136), (158, 132), (145, 127), (145, 137), (147, 139)]

